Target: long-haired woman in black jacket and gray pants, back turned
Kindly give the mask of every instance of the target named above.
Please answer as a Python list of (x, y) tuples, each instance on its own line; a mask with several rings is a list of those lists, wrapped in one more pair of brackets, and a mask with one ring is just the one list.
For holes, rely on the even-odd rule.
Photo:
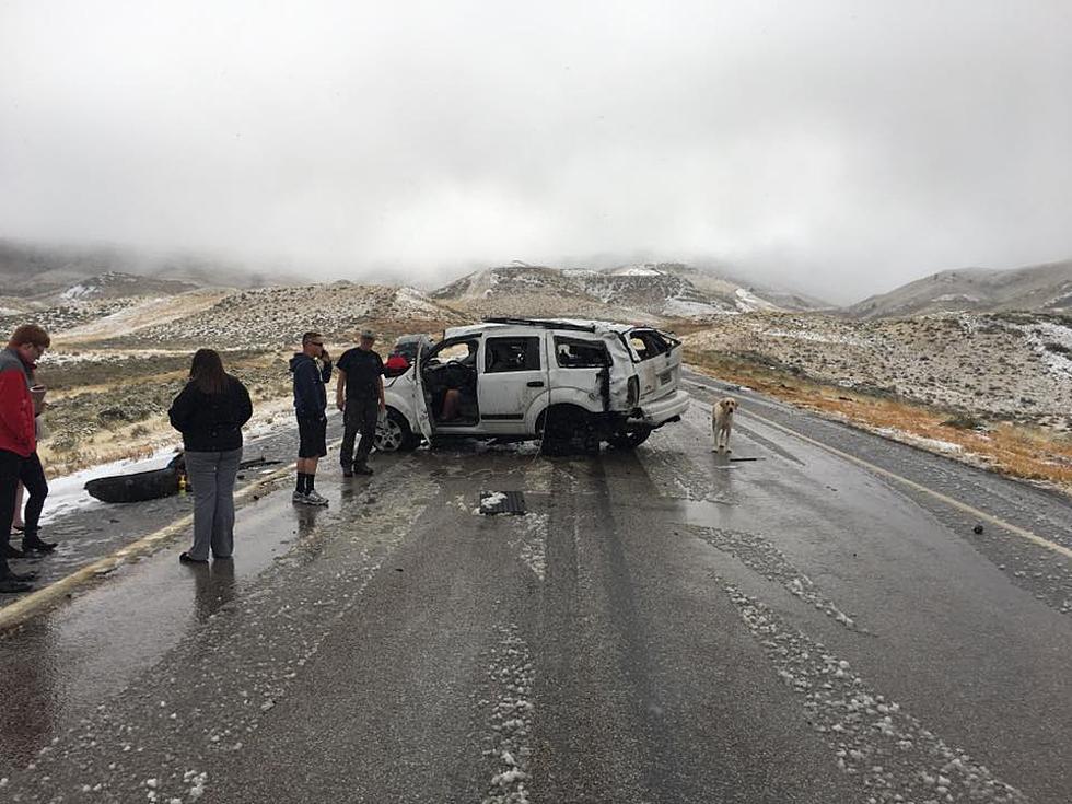
[(183, 563), (230, 558), (234, 549), (234, 479), (242, 461), (242, 426), (253, 416), (249, 392), (223, 371), (220, 356), (198, 349), (190, 378), (167, 411), (183, 434), (186, 473), (194, 486), (194, 546)]

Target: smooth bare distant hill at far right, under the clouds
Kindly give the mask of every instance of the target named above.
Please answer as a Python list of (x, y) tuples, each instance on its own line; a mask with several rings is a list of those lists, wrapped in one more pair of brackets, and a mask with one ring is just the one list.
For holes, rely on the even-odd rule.
[(847, 308), (867, 318), (956, 311), (1072, 313), (1072, 259), (1013, 270), (942, 271)]

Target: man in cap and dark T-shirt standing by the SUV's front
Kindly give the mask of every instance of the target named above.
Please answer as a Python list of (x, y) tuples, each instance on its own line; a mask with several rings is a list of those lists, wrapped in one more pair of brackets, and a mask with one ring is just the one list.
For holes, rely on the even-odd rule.
[[(339, 453), (343, 477), (353, 477), (354, 473), (372, 474), (369, 453), (376, 436), (376, 423), (387, 409), (383, 395), (384, 364), (372, 349), (375, 341), (375, 334), (365, 329), (361, 333), (358, 347), (345, 351), (336, 365), (339, 378), (335, 403), (342, 411), (343, 421), (342, 450)], [(354, 453), (353, 442), (358, 433), (361, 440)]]

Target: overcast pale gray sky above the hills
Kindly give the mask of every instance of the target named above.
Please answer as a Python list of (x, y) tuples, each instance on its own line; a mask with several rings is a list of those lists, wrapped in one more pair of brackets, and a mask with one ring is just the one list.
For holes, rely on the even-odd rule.
[(0, 236), (851, 301), (1072, 256), (1072, 2), (0, 0)]

